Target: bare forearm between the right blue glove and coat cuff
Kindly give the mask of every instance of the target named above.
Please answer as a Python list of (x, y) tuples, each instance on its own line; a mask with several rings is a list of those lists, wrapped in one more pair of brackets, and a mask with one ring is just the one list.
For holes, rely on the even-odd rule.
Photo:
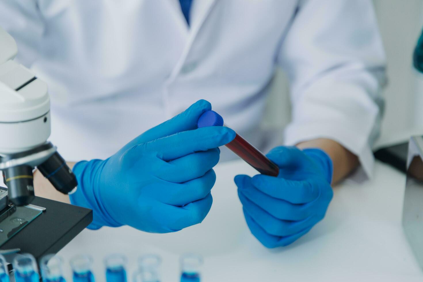
[(356, 155), (348, 151), (341, 144), (330, 139), (315, 139), (301, 142), (297, 145), (298, 148), (320, 148), (325, 151), (333, 163), (333, 178), (332, 184), (336, 184), (349, 175), (354, 170), (359, 162)]

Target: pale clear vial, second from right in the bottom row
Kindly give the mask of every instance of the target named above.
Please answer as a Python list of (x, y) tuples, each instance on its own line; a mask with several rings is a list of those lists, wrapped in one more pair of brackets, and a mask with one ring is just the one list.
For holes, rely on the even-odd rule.
[(160, 265), (162, 259), (158, 255), (143, 255), (138, 259), (138, 270), (135, 272), (134, 282), (160, 282)]

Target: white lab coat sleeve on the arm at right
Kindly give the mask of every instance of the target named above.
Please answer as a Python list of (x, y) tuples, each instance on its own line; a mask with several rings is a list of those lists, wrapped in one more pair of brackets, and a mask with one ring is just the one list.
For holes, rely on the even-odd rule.
[(299, 1), (277, 61), (291, 86), (286, 145), (335, 140), (371, 177), (383, 112), (385, 53), (371, 0)]

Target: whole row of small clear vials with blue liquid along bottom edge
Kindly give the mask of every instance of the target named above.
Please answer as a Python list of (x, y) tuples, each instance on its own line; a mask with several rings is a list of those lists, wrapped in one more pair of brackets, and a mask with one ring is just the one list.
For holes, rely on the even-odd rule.
[[(70, 260), (73, 282), (95, 282), (92, 269), (93, 259), (90, 255), (78, 255)], [(161, 258), (158, 255), (143, 255), (138, 259), (137, 270), (132, 277), (126, 273), (127, 259), (124, 255), (113, 254), (104, 259), (105, 281), (107, 282), (160, 282)], [(200, 268), (203, 258), (197, 254), (186, 254), (180, 258), (181, 282), (200, 282)], [(16, 282), (39, 282), (36, 259), (30, 254), (15, 257), (13, 263)], [(57, 255), (46, 255), (39, 261), (43, 282), (66, 282), (63, 275), (64, 263)], [(132, 280), (131, 280), (132, 279)], [(104, 281), (104, 277), (97, 277)], [(0, 255), (0, 282), (10, 282), (7, 263)]]

